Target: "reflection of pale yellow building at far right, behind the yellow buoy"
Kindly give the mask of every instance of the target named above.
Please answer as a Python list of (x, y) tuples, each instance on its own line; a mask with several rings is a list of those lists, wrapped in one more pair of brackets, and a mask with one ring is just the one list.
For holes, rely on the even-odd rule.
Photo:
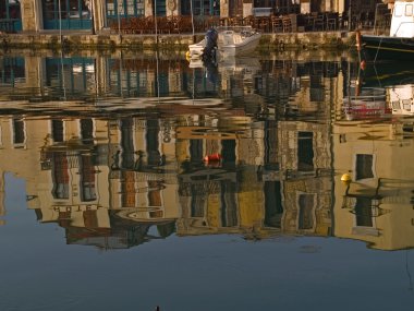
[[(381, 250), (414, 247), (412, 129), (409, 119), (334, 124), (337, 237)], [(351, 181), (341, 181), (344, 174)]]

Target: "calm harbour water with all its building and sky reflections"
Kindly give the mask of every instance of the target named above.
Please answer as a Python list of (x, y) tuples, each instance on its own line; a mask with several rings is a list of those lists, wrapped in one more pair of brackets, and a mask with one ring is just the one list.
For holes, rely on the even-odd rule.
[(0, 63), (1, 310), (412, 310), (407, 75), (309, 55)]

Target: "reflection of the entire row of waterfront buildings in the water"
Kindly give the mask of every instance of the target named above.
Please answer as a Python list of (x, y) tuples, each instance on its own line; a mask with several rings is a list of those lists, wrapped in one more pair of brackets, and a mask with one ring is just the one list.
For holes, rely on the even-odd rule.
[(162, 57), (24, 60), (26, 77), (3, 82), (20, 100), (2, 95), (0, 216), (11, 171), (68, 243), (236, 234), (413, 247), (412, 122), (345, 118), (348, 64), (249, 60), (211, 81)]

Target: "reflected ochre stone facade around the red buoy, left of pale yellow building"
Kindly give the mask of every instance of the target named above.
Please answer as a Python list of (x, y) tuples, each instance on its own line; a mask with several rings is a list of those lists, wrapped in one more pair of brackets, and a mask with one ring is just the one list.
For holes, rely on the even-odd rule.
[[(233, 121), (235, 133), (220, 125), (202, 135), (202, 127), (178, 129), (178, 158), (185, 164), (179, 175), (183, 213), (178, 234), (329, 236), (332, 182), (326, 125)], [(236, 134), (238, 125), (246, 123), (252, 128)], [(216, 153), (223, 155), (218, 167), (202, 163), (204, 154)], [(304, 154), (309, 156), (304, 159)]]

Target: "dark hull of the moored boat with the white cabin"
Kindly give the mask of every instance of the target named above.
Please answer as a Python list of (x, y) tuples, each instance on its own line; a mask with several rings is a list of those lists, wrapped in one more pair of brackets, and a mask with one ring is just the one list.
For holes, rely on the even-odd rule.
[(363, 35), (361, 43), (363, 46), (362, 58), (367, 61), (414, 61), (414, 38)]

